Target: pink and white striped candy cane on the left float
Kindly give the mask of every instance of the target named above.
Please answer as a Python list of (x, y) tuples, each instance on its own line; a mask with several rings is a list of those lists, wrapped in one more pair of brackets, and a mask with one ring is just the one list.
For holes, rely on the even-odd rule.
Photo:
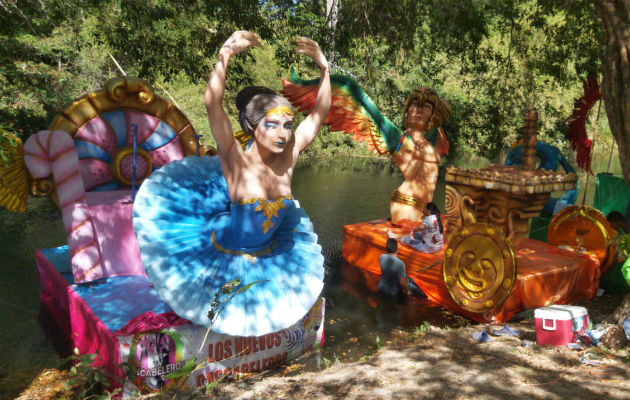
[(40, 131), (31, 135), (24, 144), (24, 162), (36, 178), (52, 173), (68, 234), (74, 281), (89, 282), (105, 277), (72, 137), (64, 131)]

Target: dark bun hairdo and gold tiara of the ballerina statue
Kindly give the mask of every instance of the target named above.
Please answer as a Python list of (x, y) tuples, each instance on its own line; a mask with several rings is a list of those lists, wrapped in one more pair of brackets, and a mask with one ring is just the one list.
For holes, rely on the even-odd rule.
[(262, 86), (249, 86), (236, 95), (238, 122), (243, 132), (254, 136), (260, 121), (268, 115), (278, 113), (293, 118), (293, 107), (289, 100), (278, 96), (273, 90)]

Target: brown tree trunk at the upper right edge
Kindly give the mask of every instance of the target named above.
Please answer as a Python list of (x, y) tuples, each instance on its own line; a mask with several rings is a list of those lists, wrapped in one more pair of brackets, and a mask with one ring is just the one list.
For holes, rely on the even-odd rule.
[(619, 162), (630, 186), (630, 0), (597, 0), (604, 26), (602, 98), (619, 149)]

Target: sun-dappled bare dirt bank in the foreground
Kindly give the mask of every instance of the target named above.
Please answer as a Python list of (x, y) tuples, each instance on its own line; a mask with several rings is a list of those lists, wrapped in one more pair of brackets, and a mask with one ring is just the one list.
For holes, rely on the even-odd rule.
[[(616, 303), (615, 303), (616, 301)], [(619, 304), (603, 297), (585, 304), (600, 322)], [(208, 395), (145, 396), (213, 399), (630, 399), (627, 343), (620, 349), (536, 345), (532, 319), (510, 323), (518, 337), (473, 334), (501, 326), (473, 325), (404, 332), (364, 361), (337, 363), (319, 372), (282, 376), (282, 371), (224, 382)], [(581, 359), (590, 358), (593, 364)]]

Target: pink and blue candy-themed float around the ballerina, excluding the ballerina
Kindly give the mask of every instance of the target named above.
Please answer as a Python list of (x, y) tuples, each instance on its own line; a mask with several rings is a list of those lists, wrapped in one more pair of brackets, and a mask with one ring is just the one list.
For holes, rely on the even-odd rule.
[(176, 315), (147, 277), (132, 226), (137, 188), (175, 160), (213, 154), (147, 82), (116, 78), (74, 101), (49, 130), (23, 146), (17, 139), (15, 162), (0, 174), (10, 210), (25, 209), (27, 191), (61, 209), (67, 245), (35, 255), (42, 303), (79, 354), (98, 355), (93, 366), (125, 396), (171, 387), (168, 375), (188, 362), (196, 368), (185, 385), (198, 387), (323, 344), (323, 298), (286, 329), (235, 336)]

